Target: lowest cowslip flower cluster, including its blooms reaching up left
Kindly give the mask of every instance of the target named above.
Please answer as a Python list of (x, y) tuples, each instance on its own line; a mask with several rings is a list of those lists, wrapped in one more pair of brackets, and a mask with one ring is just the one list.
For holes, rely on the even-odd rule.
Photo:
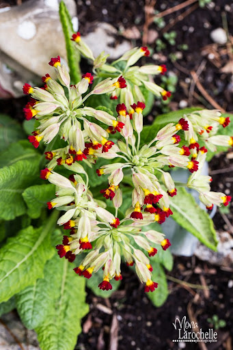
[[(81, 264), (74, 268), (75, 273), (89, 279), (92, 273), (102, 268), (103, 280), (99, 288), (108, 291), (112, 288), (111, 279), (122, 280), (123, 257), (128, 266), (135, 264), (135, 271), (139, 280), (145, 283), (146, 292), (157, 288), (158, 284), (152, 281), (152, 265), (148, 256), (156, 254), (154, 244), (160, 244), (163, 250), (171, 245), (164, 234), (155, 230), (143, 232), (133, 219), (120, 220), (109, 213), (100, 206), (104, 203), (94, 200), (79, 174), (73, 174), (67, 179), (46, 168), (41, 171), (41, 178), (57, 186), (56, 198), (47, 205), (49, 209), (65, 211), (57, 224), (70, 230), (69, 236), (63, 237), (62, 244), (56, 246), (60, 258), (73, 262), (76, 255), (90, 251)], [(146, 220), (141, 224), (150, 223), (150, 220)]]

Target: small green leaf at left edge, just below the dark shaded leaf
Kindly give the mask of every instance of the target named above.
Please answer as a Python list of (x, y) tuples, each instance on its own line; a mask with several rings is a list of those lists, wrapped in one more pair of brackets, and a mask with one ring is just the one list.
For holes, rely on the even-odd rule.
[(22, 140), (19, 142), (14, 142), (8, 147), (7, 150), (1, 152), (0, 167), (12, 165), (17, 161), (33, 159), (36, 154), (38, 154), (38, 152), (36, 152), (35, 148), (31, 148), (28, 141)]

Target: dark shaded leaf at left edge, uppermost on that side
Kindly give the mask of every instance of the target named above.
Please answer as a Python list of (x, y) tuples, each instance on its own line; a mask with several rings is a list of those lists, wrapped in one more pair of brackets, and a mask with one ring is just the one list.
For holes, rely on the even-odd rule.
[(5, 114), (0, 114), (0, 152), (8, 148), (12, 142), (24, 137), (25, 133), (16, 120)]

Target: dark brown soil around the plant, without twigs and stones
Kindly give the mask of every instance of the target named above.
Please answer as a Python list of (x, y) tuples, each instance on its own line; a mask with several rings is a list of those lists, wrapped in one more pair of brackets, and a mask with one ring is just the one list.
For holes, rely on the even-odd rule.
[[(16, 1), (1, 1), (14, 4)], [(148, 1), (150, 3), (150, 1)], [(182, 0), (156, 1), (156, 10), (159, 12), (182, 3)], [(105, 21), (113, 25), (119, 31), (137, 26), (143, 32), (144, 25), (144, 1), (141, 0), (77, 0), (80, 31), (89, 31), (90, 23), (93, 21)], [(177, 18), (187, 8), (166, 16), (166, 25)], [(180, 100), (186, 101), (187, 106), (201, 105), (213, 108), (202, 94), (195, 88), (195, 96), (189, 97), (191, 86), (190, 72), (197, 71), (203, 62), (205, 67), (200, 74), (200, 82), (204, 89), (214, 100), (226, 111), (233, 111), (232, 75), (221, 72), (221, 68), (229, 62), (229, 57), (224, 46), (213, 45), (210, 32), (217, 27), (223, 27), (221, 13), (225, 14), (228, 21), (229, 33), (233, 33), (233, 4), (230, 0), (216, 0), (214, 6), (197, 8), (182, 21), (178, 21), (169, 31), (176, 31), (176, 45), (172, 46), (166, 42), (163, 53), (156, 52), (156, 44), (150, 44), (150, 49), (161, 59), (159, 63), (167, 64), (169, 71), (178, 76), (178, 85), (173, 94), (171, 107), (178, 109)], [(155, 24), (150, 25), (154, 31), (159, 31), (159, 38), (163, 38), (163, 29), (158, 30)], [(122, 36), (116, 36), (116, 41), (122, 40)], [(141, 45), (141, 40), (133, 41), (133, 44)], [(187, 51), (178, 49), (181, 44), (187, 44)], [(204, 56), (204, 47), (208, 46), (208, 55)], [(181, 52), (180, 59), (172, 62), (172, 55)], [(214, 59), (211, 59), (213, 55)], [(152, 55), (152, 57), (154, 57)], [(148, 61), (147, 61), (148, 62)], [(154, 60), (150, 59), (150, 62)], [(27, 98), (15, 100), (1, 100), (0, 111), (10, 114), (13, 118), (23, 120), (22, 108)], [(160, 113), (160, 107), (154, 108), (154, 113)], [(222, 170), (225, 169), (225, 172)], [(220, 172), (218, 172), (220, 170)], [(211, 174), (213, 172), (213, 174)], [(213, 191), (223, 191), (227, 194), (233, 190), (233, 165), (230, 152), (228, 157), (221, 154), (210, 162), (210, 174), (213, 176)], [(231, 211), (226, 215), (230, 223), (233, 222)], [(224, 215), (217, 213), (214, 218), (218, 230), (229, 230), (229, 222)], [(174, 270), (169, 273), (178, 280), (193, 284), (200, 284), (200, 276), (204, 278), (210, 287), (209, 295), (203, 291), (184, 287), (182, 284), (169, 282), (169, 297), (164, 306), (154, 308), (143, 292), (141, 284), (132, 271), (127, 268), (123, 271), (123, 281), (120, 290), (113, 293), (110, 299), (101, 299), (89, 291), (87, 302), (90, 304), (90, 314), (84, 319), (85, 333), (79, 336), (79, 344), (76, 349), (81, 350), (117, 350), (109, 347), (110, 339), (114, 340), (113, 327), (111, 325), (113, 315), (118, 320), (118, 350), (169, 350), (169, 349), (206, 349), (196, 343), (186, 342), (178, 344), (172, 342), (178, 338), (178, 332), (172, 323), (176, 317), (187, 316), (189, 321), (197, 319), (198, 326), (204, 331), (210, 327), (207, 319), (217, 314), (219, 319), (227, 321), (226, 327), (219, 330), (218, 342), (207, 343), (208, 350), (232, 349), (232, 269), (213, 267), (206, 262), (193, 258), (176, 257)], [(97, 304), (107, 307), (107, 311), (100, 311)], [(106, 312), (110, 312), (106, 313)], [(72, 326), (72, 325), (71, 325)], [(88, 329), (89, 328), (89, 329)], [(115, 335), (116, 337), (116, 335)]]

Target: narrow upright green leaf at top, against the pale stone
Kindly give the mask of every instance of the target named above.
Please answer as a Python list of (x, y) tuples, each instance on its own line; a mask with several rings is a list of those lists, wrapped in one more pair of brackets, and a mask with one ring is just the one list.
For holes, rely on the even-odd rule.
[(64, 1), (61, 1), (59, 4), (59, 16), (66, 40), (66, 53), (68, 65), (70, 67), (70, 78), (74, 84), (77, 84), (79, 81), (81, 81), (81, 72), (79, 67), (80, 55), (78, 50), (75, 48), (76, 43), (71, 40), (74, 29), (70, 14)]

